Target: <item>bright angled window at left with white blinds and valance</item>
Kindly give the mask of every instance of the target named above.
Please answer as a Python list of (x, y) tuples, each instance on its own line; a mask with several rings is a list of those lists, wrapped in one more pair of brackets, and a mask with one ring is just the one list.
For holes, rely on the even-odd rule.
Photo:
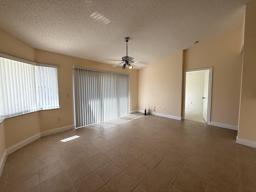
[(0, 57), (0, 118), (59, 108), (56, 66), (37, 66), (38, 63), (35, 62), (1, 53), (2, 55), (4, 57)]

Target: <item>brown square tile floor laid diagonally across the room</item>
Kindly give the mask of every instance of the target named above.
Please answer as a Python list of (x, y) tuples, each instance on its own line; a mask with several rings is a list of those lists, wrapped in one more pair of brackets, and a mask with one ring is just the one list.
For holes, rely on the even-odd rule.
[(256, 149), (236, 134), (152, 115), (68, 130), (8, 155), (0, 192), (253, 192)]

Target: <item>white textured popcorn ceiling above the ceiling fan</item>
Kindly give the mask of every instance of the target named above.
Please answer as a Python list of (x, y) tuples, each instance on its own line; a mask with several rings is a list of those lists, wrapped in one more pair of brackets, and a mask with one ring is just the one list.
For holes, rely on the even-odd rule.
[[(150, 64), (242, 25), (250, 0), (0, 0), (0, 28), (30, 46)], [(136, 69), (144, 65), (137, 64)]]

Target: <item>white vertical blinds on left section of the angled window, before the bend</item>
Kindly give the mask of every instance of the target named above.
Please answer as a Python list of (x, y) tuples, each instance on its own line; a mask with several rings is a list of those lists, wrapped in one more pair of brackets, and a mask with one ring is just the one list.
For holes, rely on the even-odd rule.
[(36, 73), (33, 65), (0, 58), (1, 118), (36, 111)]

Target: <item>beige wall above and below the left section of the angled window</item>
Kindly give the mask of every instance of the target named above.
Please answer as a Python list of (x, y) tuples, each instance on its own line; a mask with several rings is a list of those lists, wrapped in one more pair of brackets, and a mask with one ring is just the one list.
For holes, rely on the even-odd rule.
[[(0, 52), (35, 61), (34, 48), (0, 29)], [(8, 118), (2, 122), (5, 147), (9, 148), (40, 132), (39, 112)]]

